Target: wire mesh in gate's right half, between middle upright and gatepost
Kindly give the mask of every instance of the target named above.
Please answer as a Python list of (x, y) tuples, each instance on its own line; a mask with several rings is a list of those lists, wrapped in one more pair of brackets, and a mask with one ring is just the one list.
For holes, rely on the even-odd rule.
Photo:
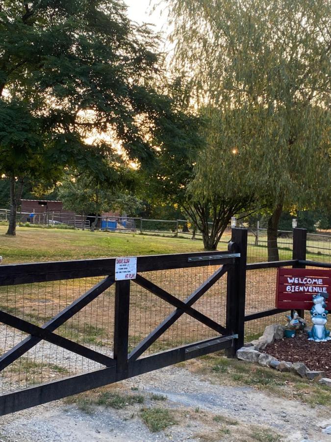
[[(218, 269), (218, 266), (205, 266), (144, 272), (141, 275), (181, 301), (185, 301)], [(192, 307), (225, 327), (226, 293), (227, 277), (225, 275)], [(130, 294), (129, 351), (148, 336), (175, 309), (176, 307), (133, 282)], [(216, 336), (218, 336), (216, 331), (184, 313), (142, 356)]]

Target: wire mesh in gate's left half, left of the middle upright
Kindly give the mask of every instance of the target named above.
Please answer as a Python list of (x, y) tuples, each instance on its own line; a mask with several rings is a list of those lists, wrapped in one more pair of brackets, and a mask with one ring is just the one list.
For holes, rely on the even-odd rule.
[[(0, 287), (0, 309), (42, 327), (102, 279), (103, 277), (87, 277), (3, 286)], [(112, 357), (114, 300), (112, 286), (54, 333)], [(28, 336), (27, 333), (1, 323), (1, 354), (5, 354)], [(91, 359), (42, 340), (1, 371), (0, 391), (8, 392), (102, 367), (103, 365)]]

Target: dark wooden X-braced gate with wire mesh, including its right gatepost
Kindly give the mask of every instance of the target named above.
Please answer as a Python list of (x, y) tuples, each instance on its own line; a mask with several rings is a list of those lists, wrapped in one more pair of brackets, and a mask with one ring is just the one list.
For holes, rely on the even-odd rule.
[(0, 267), (0, 415), (244, 339), (247, 231), (229, 251), (141, 256), (132, 280), (115, 258)]

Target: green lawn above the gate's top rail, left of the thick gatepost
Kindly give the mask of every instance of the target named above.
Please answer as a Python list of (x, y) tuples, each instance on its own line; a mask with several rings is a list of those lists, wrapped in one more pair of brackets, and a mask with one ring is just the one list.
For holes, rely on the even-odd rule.
[(3, 264), (204, 250), (202, 241), (185, 238), (30, 227), (17, 227), (16, 237), (10, 237), (6, 231), (7, 226), (0, 225)]

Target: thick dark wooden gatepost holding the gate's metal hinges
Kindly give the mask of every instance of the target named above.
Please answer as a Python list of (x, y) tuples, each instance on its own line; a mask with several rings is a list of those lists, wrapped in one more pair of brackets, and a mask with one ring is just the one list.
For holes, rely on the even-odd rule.
[(233, 228), (229, 251), (240, 253), (240, 258), (228, 271), (227, 279), (227, 330), (229, 334), (238, 334), (232, 348), (227, 350), (228, 358), (234, 358), (236, 351), (244, 345), (245, 301), (246, 301), (246, 264), (247, 264), (247, 229)]

